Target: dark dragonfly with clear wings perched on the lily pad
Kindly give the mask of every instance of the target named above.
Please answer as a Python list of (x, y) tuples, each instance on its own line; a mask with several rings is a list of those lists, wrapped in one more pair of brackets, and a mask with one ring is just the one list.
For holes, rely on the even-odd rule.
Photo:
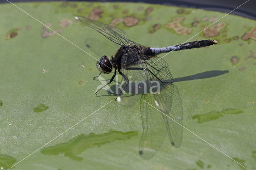
[[(109, 59), (103, 55), (96, 63), (101, 73), (109, 74), (114, 69), (110, 81), (116, 73), (122, 75), (123, 84), (118, 88), (117, 101), (124, 105), (136, 102), (140, 97), (142, 137), (139, 154), (152, 158), (162, 145), (166, 134), (172, 146), (178, 148), (182, 143), (182, 101), (178, 88), (174, 85), (168, 63), (158, 57), (160, 53), (206, 47), (218, 43), (216, 40), (187, 42), (168, 47), (146, 47), (130, 40), (126, 32), (110, 24), (75, 16), (83, 24), (96, 30), (112, 42), (120, 45)], [(96, 78), (94, 77), (94, 78)], [(129, 93), (128, 93), (129, 91)]]

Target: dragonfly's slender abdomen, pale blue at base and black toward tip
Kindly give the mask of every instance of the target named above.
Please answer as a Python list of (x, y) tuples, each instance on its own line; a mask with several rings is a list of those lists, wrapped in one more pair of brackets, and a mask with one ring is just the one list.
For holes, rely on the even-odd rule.
[(182, 43), (182, 44), (173, 45), (169, 47), (162, 47), (162, 48), (149, 47), (149, 48), (151, 50), (151, 53), (154, 53), (154, 55), (158, 55), (160, 53), (168, 53), (170, 51), (179, 51), (182, 49), (206, 47), (216, 43), (218, 43), (216, 40), (201, 40), (201, 41)]

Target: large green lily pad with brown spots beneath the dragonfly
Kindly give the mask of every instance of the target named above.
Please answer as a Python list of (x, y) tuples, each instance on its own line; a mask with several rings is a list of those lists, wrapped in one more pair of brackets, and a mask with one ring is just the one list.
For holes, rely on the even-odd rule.
[[(155, 4), (15, 5), (63, 37), (16, 6), (0, 4), (3, 169), (16, 163), (13, 169), (19, 170), (256, 168), (256, 21)], [(106, 90), (94, 94), (104, 83), (92, 79), (99, 73), (96, 59), (114, 54), (117, 48), (98, 32), (76, 22), (77, 15), (112, 23), (124, 29), (132, 41), (151, 47), (218, 40), (210, 47), (173, 51), (164, 57), (183, 103), (183, 125), (187, 129), (183, 128), (179, 148), (172, 147), (166, 138), (153, 158), (140, 157), (140, 104), (123, 107)], [(177, 20), (178, 28), (174, 27)], [(111, 76), (102, 75), (106, 81)], [(109, 132), (116, 133), (86, 138)], [(90, 147), (97, 141), (102, 142), (99, 147)], [(47, 148), (58, 146), (61, 150), (44, 154)]]

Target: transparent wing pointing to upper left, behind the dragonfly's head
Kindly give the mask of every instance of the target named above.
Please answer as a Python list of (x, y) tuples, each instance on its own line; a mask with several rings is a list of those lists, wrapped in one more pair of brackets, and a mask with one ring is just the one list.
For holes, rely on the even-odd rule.
[(108, 38), (114, 43), (117, 43), (118, 45), (131, 45), (131, 44), (137, 44), (135, 42), (132, 42), (126, 32), (120, 28), (116, 28), (112, 25), (104, 24), (99, 21), (94, 21), (89, 18), (85, 18), (82, 16), (75, 16), (76, 20), (79, 20), (80, 22), (84, 23), (85, 25), (89, 26), (90, 28), (98, 31), (100, 34)]

